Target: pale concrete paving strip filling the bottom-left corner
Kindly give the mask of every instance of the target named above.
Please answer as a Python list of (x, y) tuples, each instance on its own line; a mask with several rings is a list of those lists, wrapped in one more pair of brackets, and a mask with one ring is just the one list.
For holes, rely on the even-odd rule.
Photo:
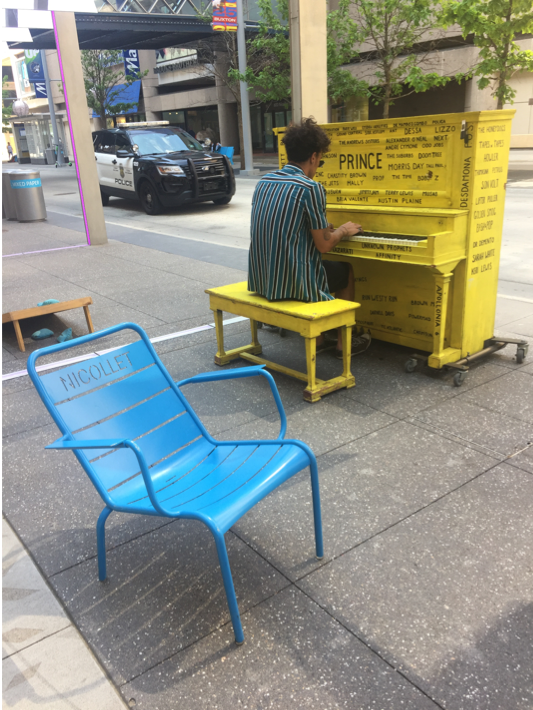
[(126, 707), (3, 518), (2, 608), (3, 708)]

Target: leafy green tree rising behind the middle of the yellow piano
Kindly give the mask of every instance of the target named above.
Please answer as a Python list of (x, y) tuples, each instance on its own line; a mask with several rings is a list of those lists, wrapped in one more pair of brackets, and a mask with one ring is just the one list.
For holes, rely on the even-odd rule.
[(426, 71), (428, 54), (437, 46), (435, 40), (428, 40), (437, 25), (435, 0), (350, 0), (350, 5), (356, 15), (350, 20), (357, 28), (355, 39), (370, 45), (360, 61), (371, 62), (378, 79), (378, 86), (367, 82), (367, 91), (374, 103), (383, 102), (383, 118), (389, 117), (394, 99), (451, 80)]

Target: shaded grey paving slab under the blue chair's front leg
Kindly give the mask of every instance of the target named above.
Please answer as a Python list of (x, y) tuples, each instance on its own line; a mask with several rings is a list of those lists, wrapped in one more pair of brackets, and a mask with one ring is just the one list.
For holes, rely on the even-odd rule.
[[(226, 545), (241, 614), (289, 584), (235, 535)], [(89, 560), (50, 583), (117, 684), (231, 628), (215, 543), (201, 523), (172, 522), (111, 550), (107, 573), (100, 582)]]

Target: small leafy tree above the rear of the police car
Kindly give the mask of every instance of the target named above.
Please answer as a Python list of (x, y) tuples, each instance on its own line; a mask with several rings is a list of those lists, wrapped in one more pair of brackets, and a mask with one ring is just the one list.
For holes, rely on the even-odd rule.
[[(147, 72), (124, 75), (123, 57), (120, 50), (88, 49), (81, 53), (81, 65), (85, 81), (87, 105), (100, 116), (105, 125), (106, 116), (126, 113), (137, 107), (137, 102), (121, 101), (124, 91), (118, 84), (132, 84)], [(117, 69), (117, 65), (121, 65)]]

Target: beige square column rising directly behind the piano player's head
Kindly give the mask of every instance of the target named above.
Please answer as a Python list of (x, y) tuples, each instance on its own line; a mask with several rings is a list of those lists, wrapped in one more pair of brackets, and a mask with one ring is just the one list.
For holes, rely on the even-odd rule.
[(289, 0), (292, 120), (328, 122), (326, 0)]

